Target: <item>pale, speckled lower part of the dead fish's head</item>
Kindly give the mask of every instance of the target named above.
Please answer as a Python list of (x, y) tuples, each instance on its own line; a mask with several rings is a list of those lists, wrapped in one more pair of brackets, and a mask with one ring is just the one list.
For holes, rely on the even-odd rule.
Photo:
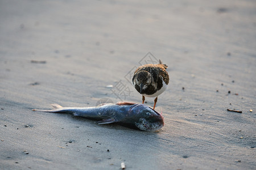
[(143, 117), (139, 118), (139, 122), (135, 122), (135, 126), (144, 131), (156, 131), (163, 128), (163, 125), (162, 122), (149, 122)]

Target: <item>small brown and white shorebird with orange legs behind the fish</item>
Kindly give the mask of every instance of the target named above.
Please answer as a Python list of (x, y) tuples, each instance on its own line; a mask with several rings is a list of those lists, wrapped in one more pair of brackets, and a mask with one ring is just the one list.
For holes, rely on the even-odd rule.
[(133, 85), (135, 89), (142, 95), (142, 103), (144, 104), (146, 97), (155, 97), (154, 109), (158, 96), (162, 94), (169, 83), (169, 75), (166, 71), (167, 65), (164, 65), (159, 59), (159, 64), (147, 64), (139, 66), (133, 75)]

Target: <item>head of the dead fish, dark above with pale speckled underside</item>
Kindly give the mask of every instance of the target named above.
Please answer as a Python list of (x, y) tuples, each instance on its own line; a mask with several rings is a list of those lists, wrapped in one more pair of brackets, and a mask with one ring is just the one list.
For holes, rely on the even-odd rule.
[(147, 105), (139, 104), (132, 109), (132, 112), (136, 115), (135, 126), (141, 130), (156, 131), (164, 126), (162, 114)]

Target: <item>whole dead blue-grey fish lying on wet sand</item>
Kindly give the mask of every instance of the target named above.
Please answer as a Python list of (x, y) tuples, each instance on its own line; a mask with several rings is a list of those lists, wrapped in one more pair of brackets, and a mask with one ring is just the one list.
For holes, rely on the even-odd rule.
[(119, 102), (117, 104), (106, 103), (97, 107), (86, 108), (61, 107), (58, 104), (52, 104), (52, 107), (54, 109), (34, 109), (33, 111), (71, 113), (73, 116), (98, 120), (98, 124), (116, 123), (128, 128), (144, 131), (156, 131), (164, 125), (162, 114), (144, 104)]

